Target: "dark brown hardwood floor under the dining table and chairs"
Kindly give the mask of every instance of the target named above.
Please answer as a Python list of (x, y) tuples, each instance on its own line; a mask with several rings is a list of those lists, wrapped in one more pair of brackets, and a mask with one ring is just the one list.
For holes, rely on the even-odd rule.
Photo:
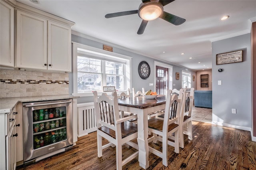
[[(211, 111), (211, 110), (210, 110)], [(148, 170), (256, 170), (256, 142), (251, 140), (250, 132), (228, 127), (219, 127), (210, 123), (192, 122), (193, 140), (185, 138), (184, 149), (176, 154), (168, 146), (168, 167), (162, 165), (162, 159), (149, 153)], [(104, 140), (103, 142), (106, 142)], [(161, 150), (161, 143), (150, 146)], [(134, 152), (123, 147), (124, 152)], [(142, 170), (138, 159), (134, 159), (123, 170)], [(78, 138), (71, 150), (46, 158), (18, 170), (115, 170), (116, 150), (109, 147), (103, 150), (102, 158), (97, 156), (97, 136), (92, 132)]]

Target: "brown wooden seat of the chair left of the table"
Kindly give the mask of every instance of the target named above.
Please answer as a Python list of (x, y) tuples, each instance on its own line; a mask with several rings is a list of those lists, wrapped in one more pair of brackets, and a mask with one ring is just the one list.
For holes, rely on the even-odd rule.
[[(110, 135), (112, 138), (116, 138), (116, 132), (106, 126), (102, 126), (100, 128), (98, 128), (99, 130), (101, 130), (102, 132)], [(122, 134), (122, 138), (125, 138), (135, 132), (138, 132), (138, 126), (136, 123), (132, 123), (129, 121), (125, 121), (121, 123), (121, 134)]]

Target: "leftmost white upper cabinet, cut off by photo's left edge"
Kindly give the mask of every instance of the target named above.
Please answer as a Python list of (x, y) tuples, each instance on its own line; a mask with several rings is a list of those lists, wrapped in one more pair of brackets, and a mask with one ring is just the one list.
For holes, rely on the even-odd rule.
[(0, 3), (0, 65), (14, 67), (14, 7)]

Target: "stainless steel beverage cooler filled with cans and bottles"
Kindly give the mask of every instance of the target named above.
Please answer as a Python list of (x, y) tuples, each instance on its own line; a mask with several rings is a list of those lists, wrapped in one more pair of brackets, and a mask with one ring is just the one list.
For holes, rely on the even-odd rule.
[(73, 146), (72, 99), (23, 103), (24, 164)]

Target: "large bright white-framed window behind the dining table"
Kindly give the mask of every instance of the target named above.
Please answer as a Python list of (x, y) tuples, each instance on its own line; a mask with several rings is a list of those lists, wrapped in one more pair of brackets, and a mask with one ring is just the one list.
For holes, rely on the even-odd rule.
[(73, 43), (73, 58), (73, 94), (91, 96), (92, 91), (102, 92), (104, 86), (118, 91), (130, 88), (131, 57)]

